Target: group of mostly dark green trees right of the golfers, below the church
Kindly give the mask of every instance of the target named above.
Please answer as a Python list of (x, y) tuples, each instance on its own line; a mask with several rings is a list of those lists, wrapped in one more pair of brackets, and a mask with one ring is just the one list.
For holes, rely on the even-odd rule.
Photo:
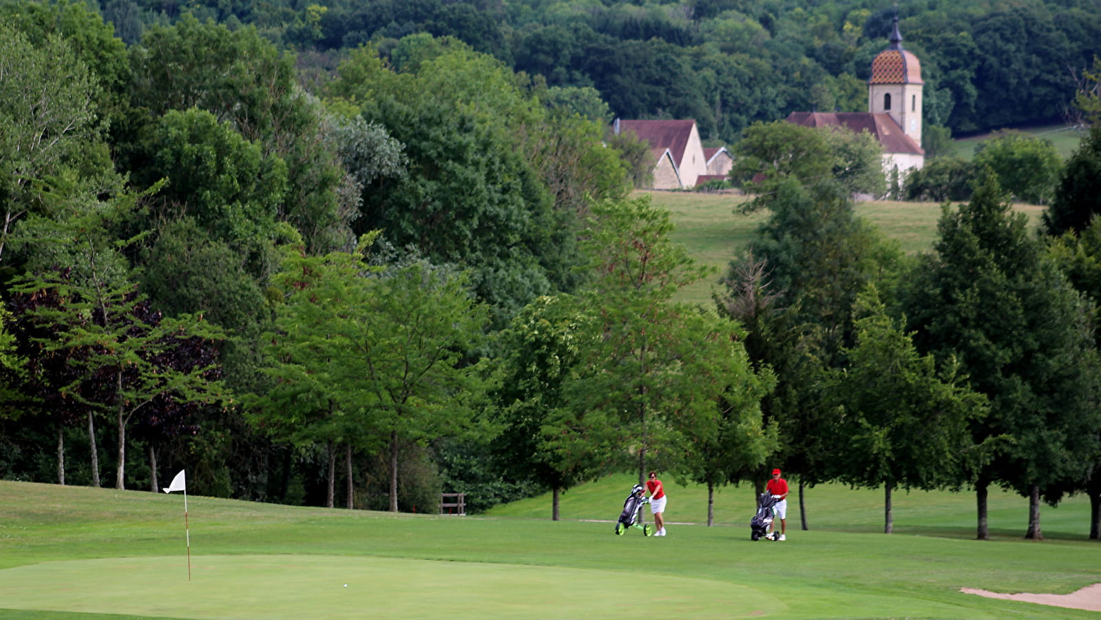
[(765, 420), (778, 424), (800, 492), (824, 480), (883, 487), (890, 531), (892, 490), (970, 488), (980, 539), (991, 485), (1029, 498), (1037, 539), (1043, 501), (1086, 492), (1097, 539), (1101, 367), (1089, 274), (1101, 204), (1086, 193), (1101, 124), (1064, 167), (1043, 235), (978, 166), (970, 202), (945, 203), (933, 252), (916, 260), (852, 216), (841, 176), (822, 174), (838, 151), (824, 159), (808, 149), (820, 138), (793, 131), (809, 130), (757, 126), (740, 144), (740, 174), (760, 191), (749, 205), (771, 216), (727, 276), (755, 303), (721, 301), (744, 317), (754, 360), (776, 370)]

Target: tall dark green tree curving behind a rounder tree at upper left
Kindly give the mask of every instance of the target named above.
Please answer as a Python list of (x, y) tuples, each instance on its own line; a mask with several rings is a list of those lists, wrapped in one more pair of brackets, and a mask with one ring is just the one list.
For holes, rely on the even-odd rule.
[(205, 110), (259, 146), (264, 161), (283, 162), (286, 178), (271, 185), (281, 194), (275, 217), (294, 226), (312, 253), (348, 244), (344, 173), (326, 142), (326, 112), (297, 85), (292, 56), (254, 28), (230, 30), (185, 14), (151, 29), (133, 51), (129, 95), (144, 117), (118, 145), (123, 167), (141, 172), (150, 155), (151, 130), (142, 123), (156, 123), (170, 110)]

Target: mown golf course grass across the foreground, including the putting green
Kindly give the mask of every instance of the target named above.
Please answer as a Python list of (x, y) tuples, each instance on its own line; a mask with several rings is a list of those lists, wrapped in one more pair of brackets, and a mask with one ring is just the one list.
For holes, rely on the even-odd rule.
[(707, 527), (688, 524), (705, 491), (672, 482), (668, 536), (617, 536), (629, 481), (565, 493), (559, 522), (532, 516), (547, 497), (440, 518), (189, 496), (190, 580), (182, 496), (0, 482), (0, 618), (1097, 617), (959, 591), (1101, 581), (1082, 498), (1045, 509), (1037, 543), (1027, 503), (992, 493), (978, 542), (967, 493), (896, 493), (887, 536), (877, 491), (827, 486), (808, 491), (818, 526), (752, 543), (749, 490), (720, 492)]

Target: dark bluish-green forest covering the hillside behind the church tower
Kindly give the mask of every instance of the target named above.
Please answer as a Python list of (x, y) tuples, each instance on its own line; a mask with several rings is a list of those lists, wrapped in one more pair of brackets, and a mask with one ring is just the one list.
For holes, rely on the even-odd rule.
[(184, 12), (254, 25), (316, 75), (364, 43), (453, 36), (548, 86), (595, 88), (617, 117), (696, 119), (717, 144), (792, 111), (865, 111), (871, 61), (896, 14), (905, 47), (922, 62), (926, 126), (957, 135), (1062, 121), (1082, 70), (1101, 53), (1095, 0), (111, 0), (101, 8), (131, 44)]

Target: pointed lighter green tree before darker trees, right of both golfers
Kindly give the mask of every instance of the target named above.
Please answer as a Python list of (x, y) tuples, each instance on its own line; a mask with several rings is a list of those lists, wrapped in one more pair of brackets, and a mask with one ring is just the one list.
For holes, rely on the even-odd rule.
[(874, 287), (858, 297), (855, 313), (855, 345), (827, 387), (838, 410), (830, 436), (843, 455), (841, 481), (883, 487), (890, 534), (895, 489), (960, 486), (972, 448), (968, 426), (985, 415), (986, 399), (971, 390), (956, 360), (938, 368), (931, 355), (919, 356)]

